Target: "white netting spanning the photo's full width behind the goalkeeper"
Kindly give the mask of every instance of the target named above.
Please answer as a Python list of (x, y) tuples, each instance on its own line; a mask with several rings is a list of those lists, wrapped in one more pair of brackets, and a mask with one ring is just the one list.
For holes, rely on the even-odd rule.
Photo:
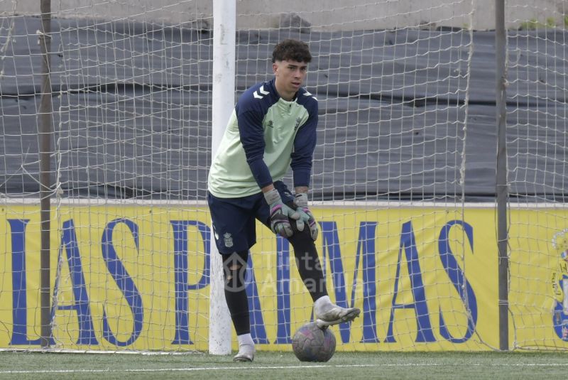
[[(0, 347), (40, 347), (38, 41), (48, 38), (50, 347), (207, 351), (205, 199), (212, 131), (224, 129), (212, 123), (211, 2), (53, 1), (46, 37), (29, 3), (0, 2)], [(546, 236), (567, 228), (564, 13), (515, 31), (532, 23), (528, 8), (508, 8), (508, 175), (522, 200), (510, 206), (511, 322), (515, 347), (560, 347), (536, 335), (558, 315), (548, 324), (542, 312), (558, 257)], [(332, 300), (361, 308), (332, 327), (340, 351), (498, 347), (491, 11), (474, 0), (236, 2), (234, 99), (272, 78), (278, 41), (310, 45), (316, 244)], [(260, 223), (257, 234), (251, 335), (258, 349), (289, 351), (312, 301), (288, 241)]]

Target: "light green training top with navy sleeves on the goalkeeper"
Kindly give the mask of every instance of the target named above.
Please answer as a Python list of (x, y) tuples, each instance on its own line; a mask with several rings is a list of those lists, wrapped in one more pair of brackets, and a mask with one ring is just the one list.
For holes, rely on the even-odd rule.
[(288, 102), (274, 81), (250, 87), (236, 103), (209, 170), (208, 190), (215, 197), (256, 194), (290, 166), (294, 187), (310, 185), (317, 99), (300, 88)]

